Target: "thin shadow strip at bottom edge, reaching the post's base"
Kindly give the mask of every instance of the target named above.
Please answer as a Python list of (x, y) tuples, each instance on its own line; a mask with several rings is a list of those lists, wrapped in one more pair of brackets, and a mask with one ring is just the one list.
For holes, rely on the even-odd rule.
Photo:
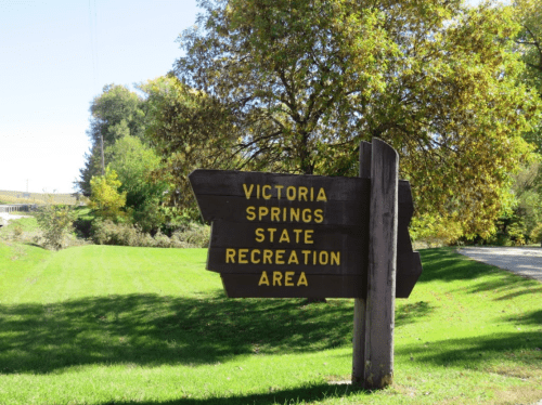
[(307, 384), (300, 388), (289, 390), (279, 390), (270, 393), (262, 394), (246, 394), (246, 395), (231, 395), (224, 397), (208, 397), (208, 399), (176, 399), (169, 401), (129, 401), (129, 402), (106, 402), (102, 405), (246, 405), (246, 404), (305, 404), (324, 401), (326, 399), (344, 399), (352, 394), (365, 392), (371, 395), (371, 391), (363, 391), (361, 388), (352, 387), (350, 384), (332, 386), (332, 384)]

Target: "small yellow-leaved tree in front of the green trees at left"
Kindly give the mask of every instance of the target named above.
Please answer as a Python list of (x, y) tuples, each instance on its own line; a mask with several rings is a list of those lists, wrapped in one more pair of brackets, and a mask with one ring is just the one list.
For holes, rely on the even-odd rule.
[(96, 215), (113, 221), (121, 221), (127, 214), (121, 209), (126, 206), (126, 192), (119, 193), (121, 183), (115, 170), (105, 170), (105, 175), (93, 177), (90, 181), (91, 195), (89, 208), (95, 210)]

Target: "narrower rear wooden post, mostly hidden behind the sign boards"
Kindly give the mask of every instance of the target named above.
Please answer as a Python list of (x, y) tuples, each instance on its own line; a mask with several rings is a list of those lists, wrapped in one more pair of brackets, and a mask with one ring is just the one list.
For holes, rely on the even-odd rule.
[[(371, 144), (360, 143), (360, 178), (371, 178)], [(363, 284), (366, 289), (366, 280)], [(363, 291), (365, 296), (365, 291)], [(364, 384), (365, 369), (365, 298), (356, 298), (353, 301), (353, 355), (352, 355), (352, 384)]]

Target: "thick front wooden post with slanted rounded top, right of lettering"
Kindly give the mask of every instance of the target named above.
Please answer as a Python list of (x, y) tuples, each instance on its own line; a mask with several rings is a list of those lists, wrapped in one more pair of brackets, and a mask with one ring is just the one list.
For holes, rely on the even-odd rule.
[(393, 380), (399, 156), (372, 146), (364, 387), (380, 389)]

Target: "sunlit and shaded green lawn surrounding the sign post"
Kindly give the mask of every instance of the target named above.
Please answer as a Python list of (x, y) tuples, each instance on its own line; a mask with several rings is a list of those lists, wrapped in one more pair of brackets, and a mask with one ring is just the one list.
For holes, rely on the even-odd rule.
[(205, 249), (0, 243), (0, 404), (515, 404), (542, 399), (542, 284), (422, 251), (395, 382), (351, 373), (352, 300), (227, 299)]

